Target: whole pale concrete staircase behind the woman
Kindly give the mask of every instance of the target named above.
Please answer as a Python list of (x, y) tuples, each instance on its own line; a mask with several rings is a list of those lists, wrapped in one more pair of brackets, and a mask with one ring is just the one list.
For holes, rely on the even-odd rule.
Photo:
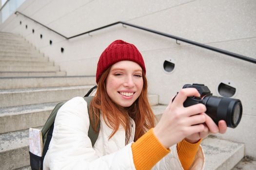
[[(58, 66), (18, 35), (0, 33), (0, 170), (30, 170), (28, 128), (41, 127), (60, 101), (83, 96), (95, 77), (65, 76)], [(165, 105), (149, 95), (154, 113)], [(218, 139), (203, 140), (205, 170), (230, 170), (244, 156), (244, 145)]]

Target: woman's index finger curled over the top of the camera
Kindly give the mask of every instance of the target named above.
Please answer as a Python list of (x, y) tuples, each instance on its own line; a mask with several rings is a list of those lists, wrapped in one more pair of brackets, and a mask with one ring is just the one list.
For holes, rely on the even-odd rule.
[(178, 94), (177, 94), (175, 100), (172, 102), (172, 104), (175, 106), (183, 106), (183, 102), (185, 102), (185, 100), (189, 96), (199, 97), (200, 94), (196, 88), (183, 88), (178, 92)]

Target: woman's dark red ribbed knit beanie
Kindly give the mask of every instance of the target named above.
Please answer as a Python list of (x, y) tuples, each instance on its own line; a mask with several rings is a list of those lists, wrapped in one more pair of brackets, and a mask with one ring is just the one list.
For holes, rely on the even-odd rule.
[(116, 40), (102, 52), (98, 59), (96, 72), (97, 84), (101, 74), (107, 68), (123, 60), (129, 60), (138, 63), (138, 65), (146, 73), (144, 61), (138, 49), (133, 44), (124, 42), (122, 40)]

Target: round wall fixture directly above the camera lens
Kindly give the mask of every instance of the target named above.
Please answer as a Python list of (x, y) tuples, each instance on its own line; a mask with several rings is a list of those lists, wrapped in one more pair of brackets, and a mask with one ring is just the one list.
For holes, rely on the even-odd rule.
[(236, 85), (229, 80), (221, 81), (217, 86), (217, 93), (222, 97), (234, 97), (236, 92)]

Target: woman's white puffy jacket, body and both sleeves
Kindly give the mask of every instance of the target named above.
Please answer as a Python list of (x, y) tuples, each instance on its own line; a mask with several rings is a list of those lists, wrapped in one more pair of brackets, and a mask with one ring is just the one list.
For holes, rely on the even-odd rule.
[[(92, 147), (88, 137), (90, 126), (87, 103), (82, 97), (66, 102), (58, 111), (53, 136), (44, 161), (44, 170), (135, 170), (131, 144), (134, 140), (135, 123), (130, 119), (131, 137), (125, 146), (125, 131), (122, 127), (111, 138), (112, 133), (100, 117), (98, 139)], [(162, 158), (154, 170), (182, 170), (176, 145)], [(201, 170), (204, 154), (200, 147), (192, 169)]]

